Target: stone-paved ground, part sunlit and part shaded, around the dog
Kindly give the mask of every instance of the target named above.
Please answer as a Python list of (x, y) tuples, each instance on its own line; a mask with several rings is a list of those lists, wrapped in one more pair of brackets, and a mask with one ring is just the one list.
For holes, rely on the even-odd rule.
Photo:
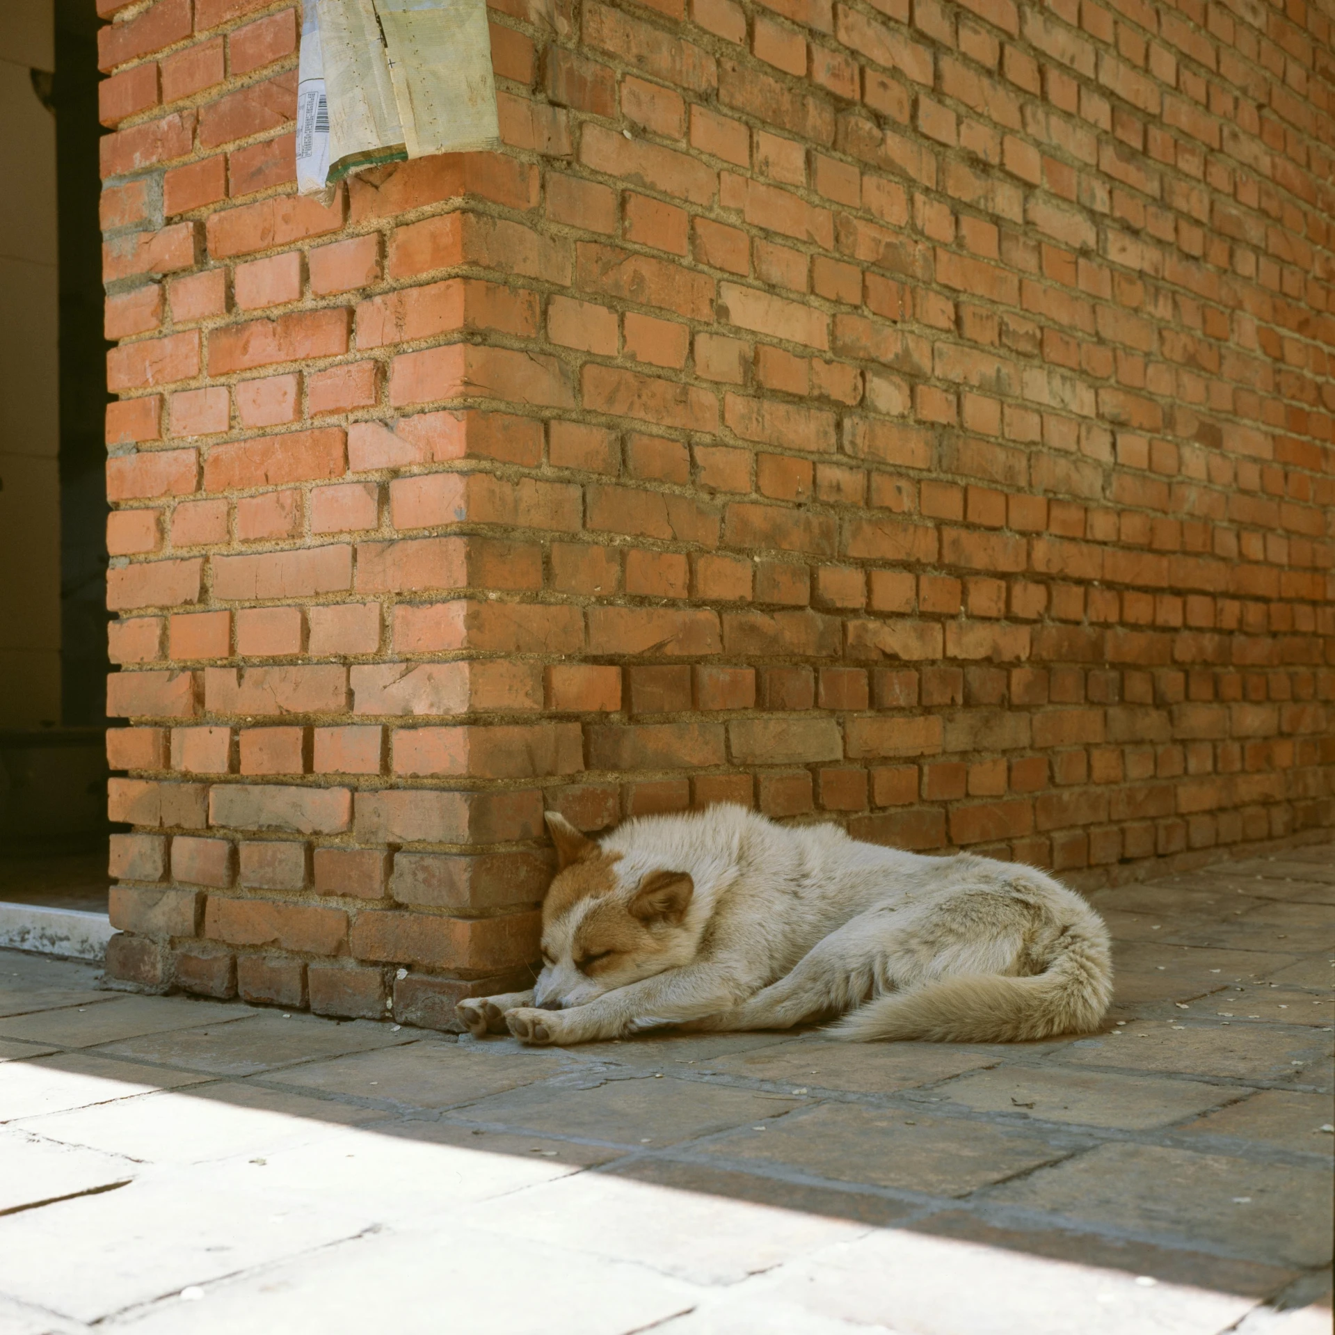
[(1335, 846), (1095, 896), (1107, 1032), (525, 1051), (0, 953), (0, 1332), (1330, 1331)]

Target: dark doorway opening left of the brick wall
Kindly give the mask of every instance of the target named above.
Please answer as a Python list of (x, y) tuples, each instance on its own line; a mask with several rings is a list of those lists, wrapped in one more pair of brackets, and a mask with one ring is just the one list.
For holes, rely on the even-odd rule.
[(105, 446), (97, 28), (0, 15), (0, 901), (107, 910)]

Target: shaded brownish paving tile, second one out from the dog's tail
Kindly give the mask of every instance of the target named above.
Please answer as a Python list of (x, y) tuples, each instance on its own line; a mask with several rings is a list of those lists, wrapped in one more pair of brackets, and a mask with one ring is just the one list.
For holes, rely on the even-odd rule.
[(821, 1104), (802, 1116), (734, 1131), (700, 1148), (734, 1161), (786, 1164), (833, 1181), (936, 1196), (964, 1196), (1069, 1153), (1021, 1128), (856, 1104)]

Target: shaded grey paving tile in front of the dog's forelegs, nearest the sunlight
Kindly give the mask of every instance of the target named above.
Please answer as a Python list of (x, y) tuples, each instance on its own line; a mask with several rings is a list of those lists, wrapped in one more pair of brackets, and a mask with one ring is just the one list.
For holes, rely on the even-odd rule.
[(642, 1076), (599, 1081), (591, 1088), (561, 1088), (554, 1081), (526, 1085), (457, 1108), (453, 1116), (623, 1145), (670, 1145), (777, 1117), (796, 1107), (800, 1100), (777, 1095)]

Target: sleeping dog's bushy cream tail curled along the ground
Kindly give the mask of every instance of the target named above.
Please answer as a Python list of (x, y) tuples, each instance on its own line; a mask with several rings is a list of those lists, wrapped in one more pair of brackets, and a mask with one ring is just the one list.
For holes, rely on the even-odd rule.
[(1043, 973), (964, 973), (888, 992), (829, 1033), (853, 1043), (1023, 1043), (1097, 1028), (1112, 1000), (1112, 963), (1101, 922), (1063, 933)]

